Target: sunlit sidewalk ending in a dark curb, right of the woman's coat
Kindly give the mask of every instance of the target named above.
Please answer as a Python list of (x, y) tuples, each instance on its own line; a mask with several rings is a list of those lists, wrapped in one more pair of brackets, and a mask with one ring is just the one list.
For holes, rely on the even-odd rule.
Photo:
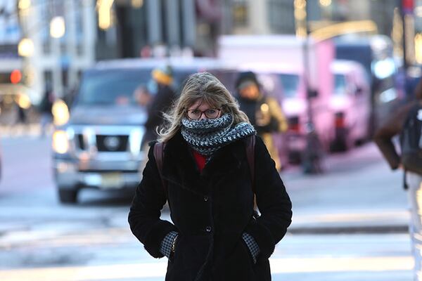
[(391, 171), (373, 143), (331, 155), (328, 171), (281, 174), (293, 202), (290, 233), (408, 233), (402, 172)]

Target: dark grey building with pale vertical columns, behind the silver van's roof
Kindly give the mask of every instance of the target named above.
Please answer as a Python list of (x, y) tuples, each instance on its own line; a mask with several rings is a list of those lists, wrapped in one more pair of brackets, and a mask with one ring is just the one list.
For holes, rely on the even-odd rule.
[(98, 59), (213, 55), (222, 9), (211, 0), (98, 0)]

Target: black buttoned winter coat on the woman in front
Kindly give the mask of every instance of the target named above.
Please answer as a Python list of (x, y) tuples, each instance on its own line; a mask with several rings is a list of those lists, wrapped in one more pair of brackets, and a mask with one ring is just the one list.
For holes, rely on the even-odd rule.
[[(253, 192), (243, 141), (221, 148), (200, 173), (191, 149), (177, 133), (165, 146), (162, 176), (172, 222), (160, 219), (166, 202), (153, 147), (143, 171), (143, 179), (129, 212), (132, 233), (155, 258), (160, 242), (170, 232), (179, 233), (167, 281), (271, 280), (269, 256), (286, 234), (291, 222), (291, 202), (283, 182), (257, 137), (255, 143), (255, 193), (261, 216), (253, 213)], [(255, 238), (260, 247), (257, 263), (242, 233)]]

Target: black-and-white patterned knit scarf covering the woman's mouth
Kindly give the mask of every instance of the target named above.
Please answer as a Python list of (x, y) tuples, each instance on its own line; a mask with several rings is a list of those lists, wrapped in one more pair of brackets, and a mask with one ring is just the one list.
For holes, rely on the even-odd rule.
[(201, 155), (210, 156), (220, 148), (245, 136), (255, 135), (253, 126), (246, 122), (231, 126), (233, 117), (225, 113), (216, 119), (181, 120), (181, 136)]

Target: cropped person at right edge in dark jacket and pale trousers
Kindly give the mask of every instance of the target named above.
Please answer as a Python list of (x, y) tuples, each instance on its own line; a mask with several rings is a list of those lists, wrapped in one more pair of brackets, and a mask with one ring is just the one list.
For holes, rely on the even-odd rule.
[[(381, 150), (383, 156), (387, 160), (390, 168), (403, 169), (400, 163), (400, 156), (392, 138), (397, 136), (401, 131), (406, 121), (410, 110), (416, 105), (422, 104), (422, 79), (419, 79), (418, 85), (415, 89), (415, 99), (406, 105), (399, 107), (397, 111), (392, 114), (384, 124), (376, 131), (374, 141)], [(411, 233), (411, 241), (415, 259), (414, 280), (422, 280), (422, 176), (411, 171), (406, 172), (405, 178), (408, 187), (408, 197), (411, 205), (411, 222), (409, 226), (409, 233)]]

